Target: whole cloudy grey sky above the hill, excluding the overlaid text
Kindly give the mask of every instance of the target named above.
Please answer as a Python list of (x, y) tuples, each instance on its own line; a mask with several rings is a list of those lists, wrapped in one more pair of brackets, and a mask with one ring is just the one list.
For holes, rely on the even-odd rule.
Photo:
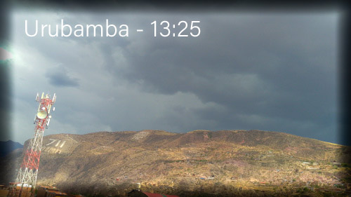
[[(25, 34), (25, 20), (33, 32), (35, 20), (62, 19), (72, 27), (108, 19), (128, 25), (129, 35)], [(154, 37), (154, 20), (200, 21), (201, 34)], [(57, 95), (45, 135), (269, 130), (338, 143), (339, 21), (336, 11), (18, 9), (11, 13), (11, 140), (32, 137), (35, 97), (45, 92)]]

